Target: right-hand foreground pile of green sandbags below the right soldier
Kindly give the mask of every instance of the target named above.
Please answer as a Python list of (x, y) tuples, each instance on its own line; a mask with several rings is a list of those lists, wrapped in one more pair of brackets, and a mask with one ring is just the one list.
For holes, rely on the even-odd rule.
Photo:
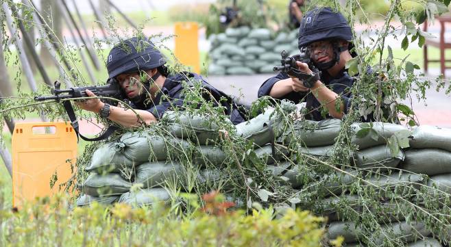
[[(333, 154), (334, 148), (341, 148), (339, 145), (335, 145), (340, 127), (341, 120), (335, 119), (319, 122), (296, 121), (293, 129), (284, 134), (278, 142), (285, 145), (291, 142), (301, 142), (298, 155), (324, 159)], [(387, 233), (394, 234), (395, 237), (410, 243), (411, 246), (430, 243), (432, 243), (430, 246), (441, 246), (436, 245), (439, 242), (435, 239), (428, 239), (421, 243), (415, 242), (414, 233), (428, 236), (430, 232), (424, 229), (424, 224), (421, 222), (414, 224), (415, 227), (404, 222), (404, 213), (400, 212), (409, 211), (411, 207), (403, 207), (402, 203), (392, 203), (389, 198), (395, 190), (403, 198), (411, 198), (424, 185), (428, 185), (431, 193), (437, 193), (439, 196), (445, 197), (443, 192), (450, 194), (451, 130), (422, 126), (410, 132), (402, 125), (382, 122), (374, 122), (370, 128), (368, 127), (368, 124), (362, 123), (352, 125), (355, 133), (360, 131), (358, 136), (354, 135), (350, 140), (352, 144), (356, 144), (358, 149), (350, 155), (351, 166), (341, 167), (343, 172), (325, 176), (315, 181), (316, 185), (306, 184), (302, 178), (297, 177), (297, 174), (305, 173), (302, 172), (305, 164), (280, 163), (277, 168), (278, 172), (281, 174), (284, 172), (284, 177), (288, 178), (286, 180), (291, 183), (293, 188), (303, 189), (317, 186), (322, 192), (322, 196), (326, 196), (324, 200), (314, 202), (313, 209), (328, 218), (330, 239), (343, 235), (345, 243), (354, 243), (352, 246), (358, 246), (355, 242), (361, 240), (363, 236), (359, 234), (363, 233), (356, 226), (356, 222), (346, 221), (348, 219), (343, 217), (342, 212), (343, 209), (351, 209), (354, 213), (361, 215), (358, 217), (374, 214)], [(365, 128), (367, 128), (367, 134), (362, 135), (361, 133), (365, 133), (365, 130), (361, 130)], [(398, 153), (393, 153), (387, 142), (393, 140), (393, 135), (395, 137), (410, 135), (410, 147), (401, 148)], [(295, 140), (292, 140), (293, 138)], [(273, 168), (271, 169), (273, 170)], [(430, 179), (427, 179), (426, 175)], [(350, 192), (353, 185), (354, 192)], [(376, 192), (376, 200), (380, 200), (377, 210), (368, 208), (365, 202), (356, 196), (356, 186), (361, 189), (371, 188)], [(382, 237), (376, 233), (369, 239), (371, 242), (382, 244)]]

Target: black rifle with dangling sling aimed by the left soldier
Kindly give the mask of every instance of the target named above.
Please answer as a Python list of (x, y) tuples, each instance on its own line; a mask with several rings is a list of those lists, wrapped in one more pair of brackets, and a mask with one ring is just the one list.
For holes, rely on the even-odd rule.
[[(55, 100), (56, 102), (60, 102), (62, 99), (76, 99), (76, 98), (83, 98), (87, 97), (86, 95), (86, 89), (93, 92), (96, 96), (103, 96), (103, 97), (109, 97), (114, 98), (118, 100), (124, 99), (123, 90), (121, 90), (121, 86), (119, 86), (119, 83), (117, 83), (116, 79), (108, 79), (108, 83), (105, 86), (88, 86), (88, 87), (79, 87), (79, 88), (67, 88), (67, 89), (60, 89), (61, 83), (59, 81), (55, 81), (54, 83), (55, 88), (51, 89), (51, 93), (53, 95), (50, 96), (36, 96), (34, 97), (35, 101), (47, 101), (47, 100)], [(101, 99), (105, 103), (109, 103), (110, 105), (117, 105), (117, 101), (113, 101), (110, 99)], [(108, 138), (109, 135), (111, 135), (117, 127), (110, 126), (106, 131), (101, 133), (97, 138), (86, 138), (84, 135), (82, 135), (79, 131), (79, 125), (77, 117), (75, 116), (75, 112), (73, 111), (73, 107), (71, 105), (71, 101), (64, 101), (62, 103), (64, 106), (64, 109), (66, 109), (67, 115), (69, 116), (69, 119), (71, 120), (71, 125), (73, 129), (75, 130), (75, 133), (77, 134), (77, 140), (79, 136), (86, 141), (97, 141), (97, 140), (103, 140), (105, 138)]]

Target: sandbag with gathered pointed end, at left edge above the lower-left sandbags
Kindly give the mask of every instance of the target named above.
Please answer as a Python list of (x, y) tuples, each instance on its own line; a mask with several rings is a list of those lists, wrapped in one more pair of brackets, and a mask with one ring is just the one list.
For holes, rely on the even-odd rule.
[(117, 141), (108, 142), (97, 148), (85, 170), (88, 172), (95, 170), (99, 173), (115, 172), (120, 168), (134, 166), (134, 161), (119, 152), (117, 144)]

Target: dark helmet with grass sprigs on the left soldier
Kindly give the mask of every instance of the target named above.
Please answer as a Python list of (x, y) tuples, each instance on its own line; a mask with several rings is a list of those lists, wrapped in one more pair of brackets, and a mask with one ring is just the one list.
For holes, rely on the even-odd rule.
[(108, 77), (114, 78), (122, 73), (149, 70), (166, 64), (162, 53), (148, 38), (130, 38), (121, 41), (108, 54), (106, 68)]

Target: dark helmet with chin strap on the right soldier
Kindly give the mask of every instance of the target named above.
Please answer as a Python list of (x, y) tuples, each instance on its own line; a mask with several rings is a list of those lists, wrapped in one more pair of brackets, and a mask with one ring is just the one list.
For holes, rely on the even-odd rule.
[(334, 60), (315, 64), (317, 68), (324, 70), (337, 64), (341, 51), (348, 49), (339, 47), (338, 40), (352, 41), (351, 27), (343, 14), (330, 8), (315, 8), (306, 13), (299, 28), (297, 46), (301, 50), (313, 42), (322, 40), (332, 40), (334, 47)]

